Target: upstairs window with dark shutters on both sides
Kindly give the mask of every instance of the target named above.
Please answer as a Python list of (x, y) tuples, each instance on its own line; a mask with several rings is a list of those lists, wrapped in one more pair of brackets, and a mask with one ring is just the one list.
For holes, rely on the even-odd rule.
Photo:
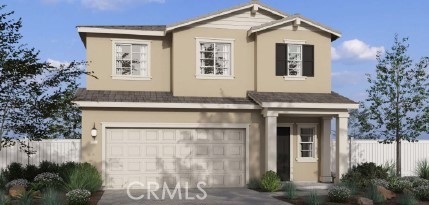
[(314, 77), (314, 46), (288, 40), (276, 44), (276, 76), (285, 79)]

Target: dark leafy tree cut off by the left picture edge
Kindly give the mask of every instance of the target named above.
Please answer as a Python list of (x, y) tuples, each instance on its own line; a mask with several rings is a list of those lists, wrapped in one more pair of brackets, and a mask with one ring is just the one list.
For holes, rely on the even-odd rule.
[[(80, 134), (80, 112), (73, 104), (77, 79), (92, 75), (84, 63), (55, 67), (41, 62), (39, 52), (20, 43), (21, 19), (0, 6), (0, 149), (14, 138), (29, 140)], [(31, 154), (27, 143), (18, 141)]]

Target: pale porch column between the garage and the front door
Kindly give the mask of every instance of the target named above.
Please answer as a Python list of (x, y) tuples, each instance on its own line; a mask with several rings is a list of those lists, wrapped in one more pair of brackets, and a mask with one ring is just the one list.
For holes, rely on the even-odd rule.
[(265, 171), (277, 172), (277, 117), (278, 113), (264, 111), (265, 117)]

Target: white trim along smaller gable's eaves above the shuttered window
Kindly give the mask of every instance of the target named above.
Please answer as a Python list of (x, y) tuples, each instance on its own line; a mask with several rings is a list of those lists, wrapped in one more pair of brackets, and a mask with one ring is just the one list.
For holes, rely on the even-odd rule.
[(247, 32), (247, 34), (250, 36), (251, 34), (258, 32), (258, 31), (263, 31), (265, 29), (269, 29), (269, 28), (273, 28), (276, 26), (281, 26), (283, 24), (286, 23), (290, 23), (290, 22), (296, 22), (298, 24), (300, 24), (300, 22), (305, 22), (306, 24), (309, 24), (311, 26), (314, 26), (322, 31), (326, 31), (328, 33), (330, 33), (332, 35), (332, 40), (335, 40), (339, 37), (341, 37), (341, 32), (337, 31), (335, 29), (332, 29), (326, 25), (323, 25), (317, 21), (313, 21), (310, 20), (308, 18), (305, 18), (304, 16), (302, 16), (301, 14), (294, 14), (291, 16), (288, 16), (286, 18), (280, 19), (280, 20), (276, 20), (276, 21), (271, 21), (259, 26), (254, 26), (252, 28), (250, 28), (250, 30)]

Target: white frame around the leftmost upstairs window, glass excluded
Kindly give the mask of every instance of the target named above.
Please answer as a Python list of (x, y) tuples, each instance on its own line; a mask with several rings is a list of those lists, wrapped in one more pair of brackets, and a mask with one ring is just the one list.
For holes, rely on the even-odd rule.
[[(151, 80), (151, 41), (135, 39), (111, 39), (112, 41), (112, 79), (114, 80)], [(140, 44), (147, 46), (147, 76), (125, 76), (116, 74), (116, 44)]]

